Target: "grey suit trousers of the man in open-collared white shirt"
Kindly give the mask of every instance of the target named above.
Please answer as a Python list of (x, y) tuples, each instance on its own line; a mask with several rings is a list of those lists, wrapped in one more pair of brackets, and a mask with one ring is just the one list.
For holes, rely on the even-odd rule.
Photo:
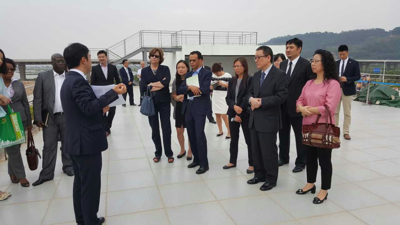
[[(65, 116), (54, 115), (54, 121), (49, 117), (47, 127), (43, 127), (43, 153), (42, 153), (42, 171), (39, 178), (53, 179), (56, 168), (58, 135), (61, 137), (61, 146), (65, 143)], [(70, 156), (61, 151), (62, 171), (72, 171)]]

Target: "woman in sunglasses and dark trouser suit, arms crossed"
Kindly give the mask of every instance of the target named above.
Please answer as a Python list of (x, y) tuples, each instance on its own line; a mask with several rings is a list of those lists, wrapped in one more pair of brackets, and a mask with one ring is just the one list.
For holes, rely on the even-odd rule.
[(142, 69), (140, 88), (147, 94), (151, 94), (154, 103), (154, 116), (148, 117), (152, 129), (152, 140), (156, 147), (153, 161), (158, 163), (161, 160), (162, 145), (160, 137), (160, 123), (158, 114), (160, 114), (162, 143), (164, 144), (164, 153), (168, 157), (168, 163), (174, 162), (171, 149), (171, 95), (170, 80), (171, 72), (168, 66), (161, 65), (164, 62), (164, 51), (161, 48), (153, 48), (149, 52), (150, 66)]

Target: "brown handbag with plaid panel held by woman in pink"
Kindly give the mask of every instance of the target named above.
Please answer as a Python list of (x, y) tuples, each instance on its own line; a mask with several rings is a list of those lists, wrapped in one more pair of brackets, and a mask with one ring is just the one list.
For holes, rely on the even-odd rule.
[[(303, 125), (303, 141), (304, 145), (322, 149), (338, 149), (340, 148), (340, 127), (335, 127), (332, 124), (332, 116), (328, 106), (325, 106), (326, 118), (325, 123), (318, 123), (321, 115), (318, 115), (315, 123), (310, 125)], [(328, 115), (329, 122), (328, 123)]]

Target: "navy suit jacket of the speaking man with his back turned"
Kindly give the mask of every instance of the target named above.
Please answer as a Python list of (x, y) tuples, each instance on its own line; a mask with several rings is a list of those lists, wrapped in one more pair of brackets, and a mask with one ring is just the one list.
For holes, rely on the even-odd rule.
[(69, 155), (92, 155), (108, 149), (102, 108), (117, 100), (118, 94), (111, 89), (96, 98), (89, 82), (78, 72), (70, 71), (60, 97), (66, 119), (66, 144), (62, 150)]

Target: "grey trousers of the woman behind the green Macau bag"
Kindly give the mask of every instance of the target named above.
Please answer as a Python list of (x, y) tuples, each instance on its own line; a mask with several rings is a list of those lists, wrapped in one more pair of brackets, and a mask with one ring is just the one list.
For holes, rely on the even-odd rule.
[[(27, 121), (22, 121), (24, 131), (26, 130)], [(15, 175), (17, 179), (26, 177), (24, 163), (21, 156), (21, 145), (13, 145), (5, 148), (8, 155), (8, 174)]]

